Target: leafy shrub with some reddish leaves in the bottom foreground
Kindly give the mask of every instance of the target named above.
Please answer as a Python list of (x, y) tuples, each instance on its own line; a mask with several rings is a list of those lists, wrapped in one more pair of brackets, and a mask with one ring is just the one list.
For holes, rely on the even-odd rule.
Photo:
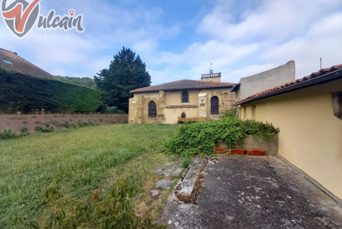
[(50, 206), (50, 217), (43, 225), (38, 225), (27, 216), (13, 215), (14, 224), (25, 228), (115, 228), (115, 229), (167, 229), (161, 223), (153, 223), (152, 218), (136, 215), (132, 210), (131, 197), (136, 188), (128, 181), (118, 181), (103, 200), (102, 190), (93, 192), (90, 200), (71, 199), (61, 192), (59, 186), (49, 186), (43, 191), (45, 201)]

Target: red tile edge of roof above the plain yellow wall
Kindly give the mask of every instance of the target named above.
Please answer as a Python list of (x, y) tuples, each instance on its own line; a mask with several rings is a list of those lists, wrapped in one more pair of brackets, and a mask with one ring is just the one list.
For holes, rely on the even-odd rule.
[(267, 93), (269, 93), (271, 91), (279, 90), (280, 88), (284, 88), (284, 87), (288, 87), (288, 86), (291, 86), (291, 85), (294, 85), (294, 84), (298, 84), (298, 83), (301, 83), (303, 81), (307, 81), (307, 80), (310, 80), (312, 78), (315, 78), (315, 77), (318, 77), (318, 76), (321, 76), (321, 75), (325, 75), (325, 74), (327, 74), (329, 72), (333, 72), (333, 71), (339, 70), (341, 68), (342, 68), (342, 64), (341, 65), (332, 66), (331, 68), (324, 68), (324, 69), (319, 70), (318, 72), (311, 73), (311, 75), (304, 76), (301, 79), (294, 80), (294, 81), (288, 82), (286, 84), (282, 84), (282, 85), (279, 85), (279, 86), (276, 86), (276, 87), (272, 87), (272, 88), (269, 88), (269, 89), (257, 92), (254, 95), (248, 96), (247, 98), (244, 98), (242, 100), (237, 101), (236, 103), (240, 103), (240, 102), (246, 101), (248, 99), (251, 99), (251, 98), (254, 98), (254, 97), (258, 97), (258, 96), (267, 94)]

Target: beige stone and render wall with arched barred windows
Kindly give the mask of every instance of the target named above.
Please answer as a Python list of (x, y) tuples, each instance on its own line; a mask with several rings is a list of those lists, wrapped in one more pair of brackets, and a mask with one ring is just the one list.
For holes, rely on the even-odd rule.
[[(230, 92), (231, 87), (225, 88), (202, 88), (189, 89), (189, 103), (181, 103), (181, 94), (184, 90), (170, 91), (153, 91), (135, 93), (133, 98), (129, 99), (129, 123), (166, 123), (176, 124), (177, 118), (181, 117), (182, 112), (186, 117), (218, 117), (219, 115), (211, 115), (211, 102), (213, 96), (219, 98), (219, 111), (232, 108), (235, 95)], [(196, 97), (195, 97), (196, 96)], [(157, 105), (157, 117), (148, 117), (148, 104), (154, 101)], [(185, 109), (165, 108), (165, 105), (183, 105), (196, 104), (198, 107)]]

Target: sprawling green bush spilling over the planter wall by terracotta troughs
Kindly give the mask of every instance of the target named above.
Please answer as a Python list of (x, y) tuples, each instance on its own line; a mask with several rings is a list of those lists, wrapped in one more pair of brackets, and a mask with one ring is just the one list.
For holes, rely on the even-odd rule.
[(234, 115), (228, 115), (223, 120), (199, 121), (183, 125), (179, 132), (166, 143), (166, 151), (182, 157), (197, 154), (210, 155), (218, 142), (225, 142), (228, 148), (247, 135), (261, 136), (263, 141), (275, 137), (279, 129), (272, 124), (254, 120), (240, 120)]

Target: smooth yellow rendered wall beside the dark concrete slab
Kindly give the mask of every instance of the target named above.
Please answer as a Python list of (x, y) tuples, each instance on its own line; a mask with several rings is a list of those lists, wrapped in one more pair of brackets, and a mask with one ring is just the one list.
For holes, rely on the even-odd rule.
[(342, 120), (331, 98), (341, 90), (342, 79), (257, 100), (255, 119), (279, 127), (279, 155), (342, 199)]

